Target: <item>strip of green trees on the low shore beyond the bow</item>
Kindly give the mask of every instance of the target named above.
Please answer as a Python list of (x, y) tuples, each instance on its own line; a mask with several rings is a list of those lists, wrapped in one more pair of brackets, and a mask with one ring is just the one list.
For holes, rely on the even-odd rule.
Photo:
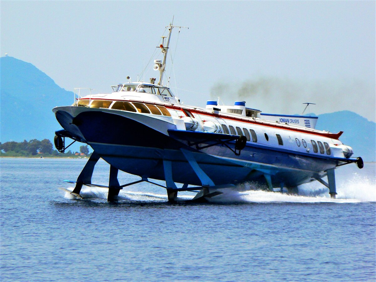
[(49, 139), (43, 139), (39, 141), (32, 139), (29, 142), (24, 140), (23, 142), (9, 141), (0, 143), (0, 157), (86, 157), (90, 156), (88, 146), (81, 146), (80, 152), (72, 152), (69, 150), (65, 153), (60, 153), (53, 149), (52, 143)]

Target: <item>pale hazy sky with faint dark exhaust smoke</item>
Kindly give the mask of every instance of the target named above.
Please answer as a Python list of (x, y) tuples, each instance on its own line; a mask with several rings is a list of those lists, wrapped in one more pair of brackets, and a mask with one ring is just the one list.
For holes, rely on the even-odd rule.
[[(374, 1), (1, 1), (1, 55), (72, 91), (137, 79), (174, 15), (171, 88), (189, 105), (220, 96), (265, 113), (375, 117)], [(177, 39), (179, 39), (177, 41)], [(149, 65), (149, 81), (157, 73)], [(53, 95), (53, 93), (52, 93)], [(58, 105), (56, 105), (58, 106)]]

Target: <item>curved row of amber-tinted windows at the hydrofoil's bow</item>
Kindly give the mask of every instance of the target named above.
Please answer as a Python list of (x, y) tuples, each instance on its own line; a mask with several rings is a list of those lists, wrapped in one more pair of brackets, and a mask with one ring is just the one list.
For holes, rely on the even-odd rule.
[[(90, 100), (78, 100), (78, 106), (89, 106)], [(109, 109), (113, 101), (109, 100), (92, 100), (90, 108), (106, 108)], [(144, 114), (166, 115), (171, 117), (170, 112), (164, 106), (156, 106), (151, 104), (143, 104), (136, 102), (116, 101), (112, 104), (111, 109), (128, 111), (128, 112), (141, 112)]]

